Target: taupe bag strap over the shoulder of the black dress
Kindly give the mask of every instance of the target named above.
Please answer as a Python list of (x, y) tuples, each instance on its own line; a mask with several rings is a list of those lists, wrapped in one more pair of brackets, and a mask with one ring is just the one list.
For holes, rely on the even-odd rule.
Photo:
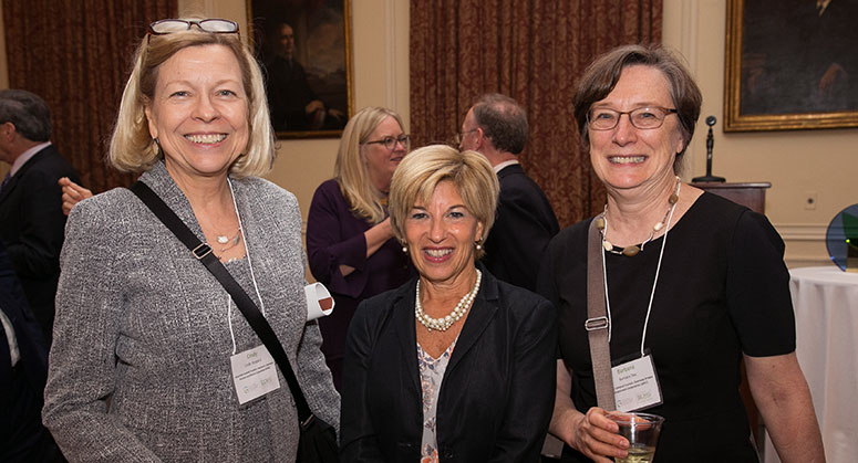
[(611, 348), (608, 344), (610, 320), (604, 305), (604, 271), (602, 269), (601, 235), (596, 227), (600, 218), (590, 221), (587, 233), (587, 322), (583, 327), (590, 341), (590, 361), (593, 366), (596, 401), (599, 408), (613, 411), (613, 378), (611, 377)]

